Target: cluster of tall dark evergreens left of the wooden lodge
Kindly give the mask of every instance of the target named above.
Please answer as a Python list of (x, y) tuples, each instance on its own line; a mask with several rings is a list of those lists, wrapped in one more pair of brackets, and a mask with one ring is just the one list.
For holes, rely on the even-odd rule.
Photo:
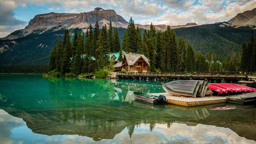
[(104, 68), (112, 68), (114, 64), (109, 61), (110, 52), (120, 52), (121, 45), (117, 28), (103, 25), (101, 30), (98, 21), (94, 28), (90, 25), (85, 38), (84, 33), (75, 31), (73, 40), (70, 40), (68, 29), (55, 43), (49, 56), (48, 72), (60, 76), (92, 73)]

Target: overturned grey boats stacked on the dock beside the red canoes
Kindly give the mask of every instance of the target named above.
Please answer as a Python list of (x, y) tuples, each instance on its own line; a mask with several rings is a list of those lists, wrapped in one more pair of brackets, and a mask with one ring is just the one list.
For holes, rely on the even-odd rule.
[(163, 84), (165, 92), (173, 96), (204, 97), (212, 94), (209, 83), (203, 80), (180, 80)]

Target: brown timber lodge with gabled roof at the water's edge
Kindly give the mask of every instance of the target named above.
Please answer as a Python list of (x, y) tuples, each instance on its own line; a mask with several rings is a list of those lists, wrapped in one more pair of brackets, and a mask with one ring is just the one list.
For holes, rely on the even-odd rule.
[(123, 61), (115, 64), (115, 71), (120, 72), (125, 69), (126, 72), (148, 72), (149, 60), (143, 54), (124, 54)]

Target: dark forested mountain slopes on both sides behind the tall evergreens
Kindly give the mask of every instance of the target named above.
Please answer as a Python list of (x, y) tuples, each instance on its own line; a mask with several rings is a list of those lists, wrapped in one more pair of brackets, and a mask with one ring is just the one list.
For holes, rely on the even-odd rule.
[[(232, 53), (241, 53), (242, 43), (248, 41), (251, 28), (219, 27), (219, 25), (208, 24), (190, 28), (177, 28), (173, 31), (176, 33), (178, 41), (180, 36), (184, 37), (185, 41), (189, 41), (196, 52), (200, 51), (205, 54), (211, 52), (220, 57), (228, 54), (232, 55)], [(0, 48), (2, 48), (0, 49), (0, 65), (29, 65), (29, 68), (34, 68), (37, 64), (47, 65), (54, 42), (59, 40), (60, 35), (63, 39), (64, 30), (52, 28), (42, 34), (35, 32), (19, 39), (0, 40)], [(117, 30), (122, 42), (126, 28), (117, 28)], [(69, 29), (71, 40), (74, 31), (79, 33), (82, 30)], [(143, 35), (143, 32), (144, 30), (141, 29), (141, 35)], [(6, 66), (1, 67), (0, 71), (8, 72)], [(33, 70), (29, 72), (31, 71), (33, 72)]]

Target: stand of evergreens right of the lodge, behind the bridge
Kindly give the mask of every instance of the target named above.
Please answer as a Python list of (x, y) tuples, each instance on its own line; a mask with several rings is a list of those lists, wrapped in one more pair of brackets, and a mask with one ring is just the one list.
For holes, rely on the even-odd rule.
[(150, 60), (151, 72), (240, 70), (240, 55), (235, 52), (226, 57), (218, 57), (211, 52), (200, 53), (182, 36), (177, 38), (170, 26), (161, 31), (151, 23), (149, 30), (144, 29), (141, 34), (141, 29), (135, 27), (132, 18), (124, 31), (122, 49), (144, 54)]

